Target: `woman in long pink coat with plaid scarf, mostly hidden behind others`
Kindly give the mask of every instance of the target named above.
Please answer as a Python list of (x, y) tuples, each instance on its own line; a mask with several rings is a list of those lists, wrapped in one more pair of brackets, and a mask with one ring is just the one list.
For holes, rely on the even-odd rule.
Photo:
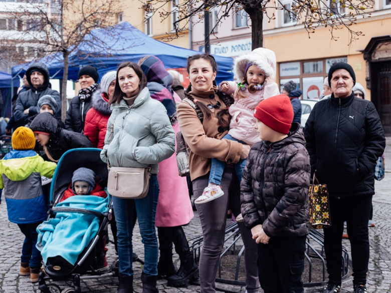
[[(172, 76), (165, 70), (163, 63), (154, 56), (147, 56), (138, 64), (147, 77), (147, 88), (151, 98), (159, 100), (164, 105), (176, 134), (179, 131), (176, 103), (181, 100), (171, 89)], [(157, 271), (159, 275), (167, 277), (169, 286), (180, 286), (198, 273), (198, 266), (182, 229), (182, 225), (188, 224), (194, 214), (186, 178), (178, 175), (175, 154), (159, 163), (157, 180), (160, 188), (155, 217), (160, 250)], [(180, 259), (178, 271), (172, 262), (172, 243)]]

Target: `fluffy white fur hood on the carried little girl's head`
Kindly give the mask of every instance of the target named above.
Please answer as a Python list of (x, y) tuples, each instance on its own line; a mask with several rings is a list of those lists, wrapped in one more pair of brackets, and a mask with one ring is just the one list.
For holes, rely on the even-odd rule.
[(251, 53), (242, 55), (235, 59), (234, 73), (239, 82), (242, 82), (245, 75), (246, 65), (253, 63), (265, 72), (266, 77), (276, 77), (276, 55), (272, 50), (257, 48)]

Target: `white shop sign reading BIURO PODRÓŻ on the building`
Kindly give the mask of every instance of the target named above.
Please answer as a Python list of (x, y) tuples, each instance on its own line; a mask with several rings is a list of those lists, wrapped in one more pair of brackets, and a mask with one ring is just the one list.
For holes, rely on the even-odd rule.
[[(200, 51), (205, 52), (205, 46), (200, 47)], [(225, 57), (236, 57), (248, 54), (252, 51), (251, 38), (221, 42), (217, 45), (211, 44), (211, 54)]]

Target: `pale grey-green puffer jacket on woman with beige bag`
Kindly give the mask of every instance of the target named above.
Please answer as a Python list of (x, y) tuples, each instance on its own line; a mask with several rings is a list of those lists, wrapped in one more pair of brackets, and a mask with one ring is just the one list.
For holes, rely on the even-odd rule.
[[(113, 167), (147, 168), (152, 165), (156, 174), (161, 161), (175, 151), (175, 133), (167, 112), (159, 101), (153, 100), (145, 87), (132, 106), (122, 99), (111, 106), (107, 123), (102, 161)], [(114, 133), (111, 125), (114, 123)], [(106, 157), (107, 155), (107, 157)]]

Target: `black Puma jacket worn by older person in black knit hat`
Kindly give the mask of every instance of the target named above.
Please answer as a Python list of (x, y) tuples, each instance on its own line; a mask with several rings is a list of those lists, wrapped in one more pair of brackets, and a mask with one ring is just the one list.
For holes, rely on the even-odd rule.
[(349, 97), (315, 104), (304, 130), (311, 171), (330, 196), (374, 194), (374, 167), (385, 148), (372, 102)]

